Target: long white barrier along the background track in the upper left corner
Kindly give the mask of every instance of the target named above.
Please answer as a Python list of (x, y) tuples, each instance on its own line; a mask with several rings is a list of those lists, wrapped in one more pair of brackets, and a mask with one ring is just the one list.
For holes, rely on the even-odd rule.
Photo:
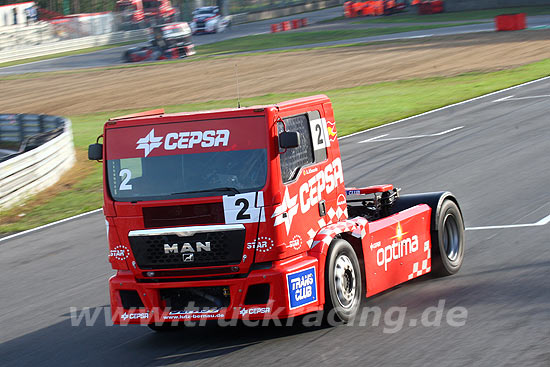
[(55, 53), (81, 50), (83, 48), (104, 46), (114, 43), (139, 41), (148, 37), (146, 29), (137, 29), (134, 31), (114, 32), (102, 34), (99, 36), (89, 36), (75, 38), (66, 41), (57, 41), (44, 43), (38, 46), (27, 47), (25, 49), (7, 50), (0, 54), (0, 63), (28, 59), (31, 57), (51, 55)]

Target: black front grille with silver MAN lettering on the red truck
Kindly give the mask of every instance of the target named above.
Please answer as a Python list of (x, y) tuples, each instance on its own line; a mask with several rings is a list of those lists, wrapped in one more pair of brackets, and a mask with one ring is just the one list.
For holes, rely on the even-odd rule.
[[(131, 236), (130, 246), (141, 269), (234, 265), (241, 262), (245, 230), (177, 235)], [(197, 246), (197, 243), (200, 243)], [(165, 245), (170, 247), (166, 253)], [(176, 250), (177, 249), (177, 250)]]

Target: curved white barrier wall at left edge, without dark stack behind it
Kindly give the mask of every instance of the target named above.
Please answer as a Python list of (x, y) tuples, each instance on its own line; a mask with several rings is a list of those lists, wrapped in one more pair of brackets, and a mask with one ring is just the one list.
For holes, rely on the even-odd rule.
[(70, 120), (56, 138), (0, 163), (0, 209), (55, 184), (75, 162)]

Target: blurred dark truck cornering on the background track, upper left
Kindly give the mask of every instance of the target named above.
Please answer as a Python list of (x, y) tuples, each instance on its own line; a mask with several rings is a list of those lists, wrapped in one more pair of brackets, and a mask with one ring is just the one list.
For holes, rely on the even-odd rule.
[(125, 62), (178, 59), (195, 54), (191, 28), (186, 22), (154, 26), (149, 45), (134, 47), (123, 54)]

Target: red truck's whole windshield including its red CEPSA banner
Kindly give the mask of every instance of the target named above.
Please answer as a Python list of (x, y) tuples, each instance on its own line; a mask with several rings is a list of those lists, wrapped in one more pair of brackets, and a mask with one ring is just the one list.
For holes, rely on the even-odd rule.
[(170, 200), (261, 190), (262, 117), (108, 129), (107, 181), (116, 201)]

